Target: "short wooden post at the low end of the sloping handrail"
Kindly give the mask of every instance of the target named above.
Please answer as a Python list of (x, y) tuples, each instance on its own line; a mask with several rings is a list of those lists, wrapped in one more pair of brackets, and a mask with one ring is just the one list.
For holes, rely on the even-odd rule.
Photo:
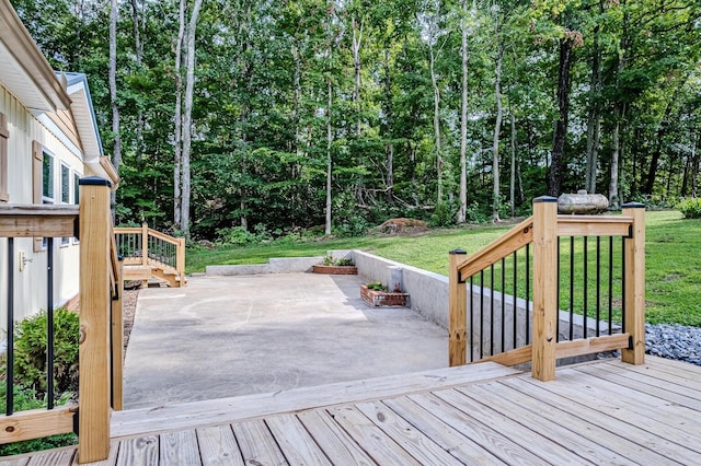
[(448, 276), (448, 363), (450, 366), (467, 363), (467, 304), (468, 291), (464, 281), (460, 279), (458, 266), (464, 260), (467, 253), (462, 249), (450, 252), (450, 272)]

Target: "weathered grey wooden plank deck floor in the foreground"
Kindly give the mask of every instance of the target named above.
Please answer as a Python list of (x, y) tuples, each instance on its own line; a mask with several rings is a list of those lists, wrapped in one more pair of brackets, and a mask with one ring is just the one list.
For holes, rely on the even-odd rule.
[(115, 412), (111, 457), (96, 464), (701, 464), (701, 368), (647, 357), (556, 377), (483, 363)]

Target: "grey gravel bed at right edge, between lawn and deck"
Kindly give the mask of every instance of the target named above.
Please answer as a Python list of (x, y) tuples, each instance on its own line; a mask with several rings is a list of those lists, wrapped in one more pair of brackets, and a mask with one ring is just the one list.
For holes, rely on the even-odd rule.
[(701, 328), (645, 324), (645, 352), (701, 365)]

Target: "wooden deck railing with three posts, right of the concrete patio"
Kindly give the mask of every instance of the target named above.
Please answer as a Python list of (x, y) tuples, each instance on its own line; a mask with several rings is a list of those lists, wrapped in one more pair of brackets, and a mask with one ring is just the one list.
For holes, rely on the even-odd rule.
[[(611, 328), (609, 328), (609, 335), (599, 336), (597, 331), (596, 337), (586, 338), (585, 329), (585, 338), (571, 338), (570, 340), (559, 341), (560, 282), (558, 273), (560, 270), (560, 236), (620, 236), (623, 238), (621, 264), (623, 290), (621, 301), (624, 327), (622, 333), (611, 334)], [(640, 203), (624, 205), (620, 217), (559, 215), (556, 199), (541, 197), (533, 200), (532, 217), (470, 258), (464, 258), (466, 253), (463, 251), (451, 252), (448, 349), (450, 365), (466, 364), (468, 345), (472, 348), (473, 343), (470, 341), (473, 335), (472, 329), (468, 328), (468, 312), (470, 306), (473, 305), (472, 299), (468, 301), (468, 293), (472, 293), (473, 290), (468, 291), (468, 280), (471, 280), (471, 277), (475, 276), (475, 273), (482, 273), (487, 267), (493, 267), (499, 261), (504, 264), (504, 258), (521, 248), (527, 251), (526, 261), (528, 263), (530, 257), (528, 248), (531, 246), (532, 280), (527, 278), (526, 318), (522, 319), (522, 325), (526, 326), (526, 333), (528, 334), (527, 341), (531, 342), (496, 356), (491, 354), (482, 359), (482, 361), (492, 360), (506, 365), (531, 361), (532, 376), (541, 381), (554, 380), (558, 359), (594, 352), (620, 349), (623, 361), (642, 364), (645, 352), (644, 206)], [(516, 269), (516, 266), (514, 266), (514, 269)], [(527, 271), (527, 273), (529, 272)], [(492, 272), (493, 284), (494, 277)], [(502, 290), (502, 300), (504, 301), (503, 292), (504, 290)], [(493, 290), (490, 293), (492, 296), (494, 295)], [(528, 301), (530, 295), (532, 295), (532, 304)], [(514, 296), (512, 312), (516, 312), (516, 301), (517, 299)], [(532, 310), (532, 319), (529, 316), (529, 310)], [(494, 312), (493, 308), (492, 312)], [(502, 307), (502, 313), (504, 313), (504, 306)], [(572, 315), (570, 318), (572, 318)], [(472, 325), (471, 319), (470, 323)], [(478, 345), (482, 345), (482, 342), (478, 342)], [(516, 331), (514, 346), (516, 346)]]

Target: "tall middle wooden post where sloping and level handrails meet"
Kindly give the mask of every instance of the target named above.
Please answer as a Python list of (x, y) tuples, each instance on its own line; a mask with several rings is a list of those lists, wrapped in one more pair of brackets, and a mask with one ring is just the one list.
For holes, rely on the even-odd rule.
[[(533, 199), (533, 354), (531, 375), (555, 378), (558, 343), (558, 199)], [(528, 318), (528, 316), (526, 316)]]

